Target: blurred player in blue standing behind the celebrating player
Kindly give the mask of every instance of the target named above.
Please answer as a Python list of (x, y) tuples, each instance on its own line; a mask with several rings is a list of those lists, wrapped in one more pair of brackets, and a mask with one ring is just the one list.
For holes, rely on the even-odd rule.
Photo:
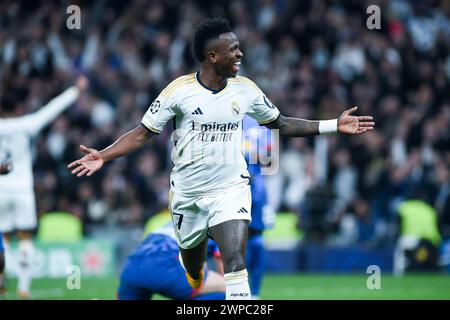
[(244, 117), (243, 150), (251, 176), (252, 222), (248, 227), (247, 270), (253, 299), (259, 299), (265, 269), (263, 231), (273, 227), (275, 212), (267, 202), (267, 190), (262, 174), (262, 157), (270, 156), (270, 131), (250, 117)]

